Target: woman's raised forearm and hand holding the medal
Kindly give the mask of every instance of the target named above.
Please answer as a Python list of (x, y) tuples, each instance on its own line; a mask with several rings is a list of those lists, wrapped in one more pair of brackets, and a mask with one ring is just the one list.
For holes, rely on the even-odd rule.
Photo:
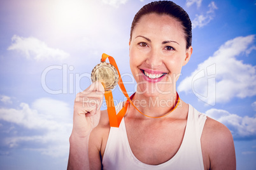
[(99, 124), (103, 96), (104, 87), (100, 82), (94, 82), (76, 95), (68, 169), (89, 169), (89, 136)]

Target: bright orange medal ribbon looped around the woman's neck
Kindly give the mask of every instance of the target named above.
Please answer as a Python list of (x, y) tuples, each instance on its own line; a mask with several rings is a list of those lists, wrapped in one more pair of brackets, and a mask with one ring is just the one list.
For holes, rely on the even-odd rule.
[[(132, 103), (131, 98), (134, 96), (134, 94), (131, 96), (131, 98), (129, 97), (129, 95), (127, 94), (127, 91), (124, 87), (124, 82), (122, 81), (120, 72), (118, 70), (117, 67), (117, 63), (115, 62), (115, 59), (112, 56), (106, 55), (105, 53), (103, 53), (102, 57), (101, 57), (101, 62), (105, 62), (106, 59), (108, 58), (108, 60), (110, 60), (111, 65), (113, 65), (115, 67), (115, 69), (117, 69), (118, 75), (119, 75), (119, 80), (118, 80), (118, 86), (120, 87), (120, 89), (122, 90), (122, 93), (124, 93), (125, 97), (127, 98), (127, 101), (125, 102), (124, 107), (118, 112), (116, 112), (115, 110), (115, 105), (114, 105), (114, 100), (113, 100), (113, 95), (111, 90), (110, 91), (105, 91), (104, 96), (105, 96), (105, 100), (106, 100), (106, 105), (107, 105), (107, 110), (108, 110), (108, 117), (110, 119), (110, 127), (116, 127), (118, 128), (120, 125), (120, 122), (122, 121), (126, 110), (128, 108), (128, 104), (131, 103), (131, 105), (136, 108), (136, 110), (138, 110), (138, 108), (134, 105), (134, 103)], [(170, 114), (171, 112), (173, 112), (173, 110), (178, 107), (178, 104), (180, 103), (180, 97), (178, 95), (178, 93), (176, 93), (176, 105), (173, 109), (171, 109), (171, 111), (165, 115), (159, 116), (159, 117), (152, 117), (149, 115), (145, 115), (143, 114), (141, 111), (138, 110), (139, 113), (145, 115), (146, 117), (151, 117), (151, 118), (160, 118), (160, 117), (164, 117), (168, 114)]]

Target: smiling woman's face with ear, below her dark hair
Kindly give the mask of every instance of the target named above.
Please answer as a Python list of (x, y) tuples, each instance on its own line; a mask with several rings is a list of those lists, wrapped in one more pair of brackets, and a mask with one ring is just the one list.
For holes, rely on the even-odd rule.
[(176, 93), (176, 81), (192, 47), (186, 49), (183, 27), (175, 18), (155, 13), (141, 17), (130, 40), (130, 67), (137, 93)]

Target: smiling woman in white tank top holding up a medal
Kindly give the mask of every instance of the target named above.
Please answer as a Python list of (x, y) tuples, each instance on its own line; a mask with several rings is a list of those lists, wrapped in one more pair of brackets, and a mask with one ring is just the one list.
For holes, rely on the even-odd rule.
[(173, 2), (153, 2), (138, 11), (129, 53), (138, 84), (132, 100), (143, 114), (129, 104), (120, 128), (110, 128), (106, 110), (91, 105), (102, 103), (103, 86), (95, 82), (78, 93), (68, 169), (236, 169), (229, 129), (182, 100), (172, 110), (191, 41), (190, 19)]

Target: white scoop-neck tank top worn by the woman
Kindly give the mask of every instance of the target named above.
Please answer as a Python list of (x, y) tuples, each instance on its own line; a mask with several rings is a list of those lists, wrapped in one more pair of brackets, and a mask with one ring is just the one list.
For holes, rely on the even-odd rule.
[[(121, 108), (122, 102), (118, 103), (116, 107), (117, 113)], [(205, 121), (206, 115), (189, 105), (187, 126), (178, 152), (167, 162), (150, 165), (141, 162), (132, 153), (125, 129), (125, 121), (122, 119), (119, 128), (110, 128), (103, 156), (103, 169), (204, 169), (201, 134)]]

